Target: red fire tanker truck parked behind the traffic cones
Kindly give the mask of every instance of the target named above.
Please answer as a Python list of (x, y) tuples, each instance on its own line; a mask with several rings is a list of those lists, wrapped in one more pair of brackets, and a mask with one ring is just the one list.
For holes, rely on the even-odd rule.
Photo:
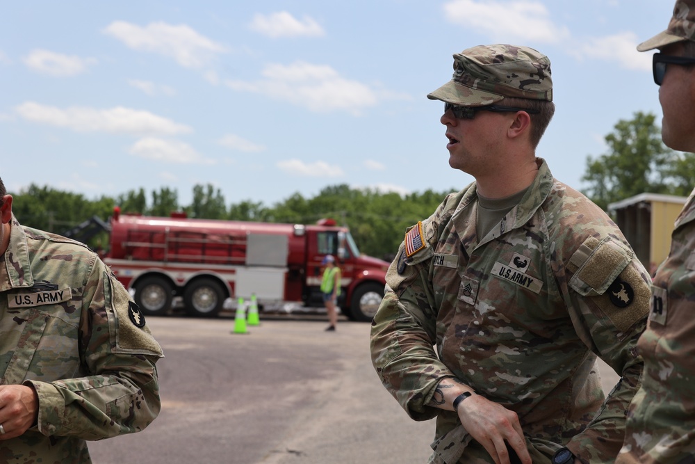
[(389, 263), (360, 255), (350, 232), (331, 219), (316, 225), (120, 214), (111, 218), (104, 262), (133, 289), (145, 314), (166, 314), (182, 296), (186, 312), (217, 315), (227, 298), (256, 296), (263, 307), (323, 306), (321, 261), (341, 268), (343, 314), (370, 321), (384, 295)]

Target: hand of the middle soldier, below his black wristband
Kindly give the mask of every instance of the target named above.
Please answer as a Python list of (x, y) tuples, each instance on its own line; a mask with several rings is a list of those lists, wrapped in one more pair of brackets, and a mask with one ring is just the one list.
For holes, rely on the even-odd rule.
[(509, 464), (509, 445), (523, 464), (532, 464), (521, 424), (514, 411), (474, 394), (459, 404), (461, 424), (482, 445), (496, 464)]

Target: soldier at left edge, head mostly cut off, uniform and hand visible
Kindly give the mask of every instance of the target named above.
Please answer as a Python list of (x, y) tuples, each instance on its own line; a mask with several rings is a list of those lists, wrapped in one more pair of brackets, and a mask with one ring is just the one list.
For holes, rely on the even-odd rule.
[(0, 202), (0, 463), (90, 463), (157, 417), (161, 347), (95, 253), (20, 225), (1, 179)]

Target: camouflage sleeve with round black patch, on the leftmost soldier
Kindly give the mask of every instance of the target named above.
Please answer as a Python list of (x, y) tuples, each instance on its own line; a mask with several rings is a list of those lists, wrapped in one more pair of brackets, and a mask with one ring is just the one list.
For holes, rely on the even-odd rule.
[(145, 429), (161, 408), (155, 362), (163, 356), (126, 289), (97, 259), (84, 286), (78, 378), (27, 381), (44, 435), (99, 440)]

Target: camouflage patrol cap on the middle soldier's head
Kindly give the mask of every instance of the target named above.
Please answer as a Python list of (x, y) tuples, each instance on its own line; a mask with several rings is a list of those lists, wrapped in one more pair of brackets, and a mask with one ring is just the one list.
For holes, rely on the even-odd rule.
[(454, 76), (427, 95), (461, 106), (485, 106), (504, 97), (553, 100), (550, 59), (529, 47), (478, 45), (454, 55)]

